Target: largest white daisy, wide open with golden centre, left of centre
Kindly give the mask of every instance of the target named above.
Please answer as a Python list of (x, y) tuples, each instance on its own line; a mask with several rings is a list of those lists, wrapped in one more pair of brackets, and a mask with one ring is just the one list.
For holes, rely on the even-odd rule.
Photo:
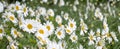
[(21, 27), (24, 31), (28, 33), (35, 33), (38, 24), (39, 22), (37, 22), (36, 20), (26, 19), (23, 21)]

